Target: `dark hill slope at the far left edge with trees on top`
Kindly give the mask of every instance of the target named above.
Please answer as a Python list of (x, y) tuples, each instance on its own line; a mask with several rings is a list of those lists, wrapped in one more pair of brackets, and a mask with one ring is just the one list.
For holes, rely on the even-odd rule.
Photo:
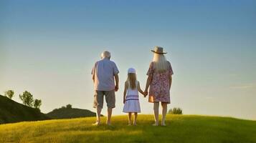
[(0, 95), (0, 124), (44, 119), (49, 119), (49, 117), (39, 112), (38, 109), (27, 107)]

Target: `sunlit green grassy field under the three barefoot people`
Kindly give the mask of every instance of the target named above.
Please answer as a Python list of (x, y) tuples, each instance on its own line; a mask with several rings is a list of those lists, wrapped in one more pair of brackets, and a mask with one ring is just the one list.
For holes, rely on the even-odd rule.
[[(167, 127), (152, 127), (153, 115), (126, 116), (113, 125), (92, 126), (95, 118), (54, 119), (0, 125), (0, 142), (256, 142), (256, 121), (229, 117), (168, 115)], [(105, 117), (103, 117), (105, 122)]]

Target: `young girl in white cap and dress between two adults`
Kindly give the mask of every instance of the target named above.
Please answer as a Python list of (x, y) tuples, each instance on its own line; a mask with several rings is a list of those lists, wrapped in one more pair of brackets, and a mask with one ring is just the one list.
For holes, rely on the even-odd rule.
[(136, 125), (138, 113), (141, 112), (140, 102), (138, 101), (138, 92), (144, 95), (140, 83), (136, 80), (136, 70), (128, 69), (128, 78), (125, 82), (123, 92), (123, 112), (128, 113), (128, 125), (131, 125), (131, 114), (134, 113), (133, 125)]

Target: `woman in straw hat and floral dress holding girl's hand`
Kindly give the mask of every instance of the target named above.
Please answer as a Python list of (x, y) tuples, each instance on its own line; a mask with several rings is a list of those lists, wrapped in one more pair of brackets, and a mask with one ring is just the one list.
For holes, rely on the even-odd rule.
[(156, 46), (153, 51), (153, 61), (148, 69), (148, 79), (146, 83), (145, 93), (148, 94), (148, 102), (153, 103), (153, 110), (155, 115), (155, 124), (158, 126), (158, 109), (159, 102), (162, 105), (162, 126), (166, 126), (165, 118), (167, 113), (167, 104), (170, 104), (170, 89), (171, 89), (171, 76), (174, 74), (171, 64), (166, 60), (163, 48)]

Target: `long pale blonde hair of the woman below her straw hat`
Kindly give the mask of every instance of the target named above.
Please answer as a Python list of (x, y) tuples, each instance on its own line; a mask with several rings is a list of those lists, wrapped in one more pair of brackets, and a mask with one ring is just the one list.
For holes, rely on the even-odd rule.
[(156, 66), (156, 71), (164, 72), (168, 69), (166, 57), (163, 54), (153, 54), (153, 62)]

